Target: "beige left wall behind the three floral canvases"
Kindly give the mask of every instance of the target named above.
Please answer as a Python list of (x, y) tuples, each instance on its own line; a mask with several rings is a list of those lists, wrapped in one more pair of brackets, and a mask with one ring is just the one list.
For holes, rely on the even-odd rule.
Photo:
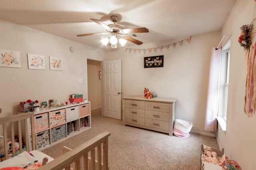
[[(65, 102), (72, 93), (87, 98), (86, 57), (102, 60), (104, 51), (6, 20), (0, 19), (0, 27), (0, 49), (20, 51), (21, 58), (21, 68), (0, 67), (0, 117), (17, 114), (28, 99)], [(28, 69), (27, 53), (44, 55), (45, 70)], [(49, 56), (63, 59), (63, 71), (49, 70)]]

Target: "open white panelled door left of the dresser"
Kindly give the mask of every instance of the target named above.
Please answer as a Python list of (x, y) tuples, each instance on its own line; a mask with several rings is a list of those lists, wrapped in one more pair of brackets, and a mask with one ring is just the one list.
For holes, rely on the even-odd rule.
[(121, 119), (121, 60), (103, 61), (103, 116)]

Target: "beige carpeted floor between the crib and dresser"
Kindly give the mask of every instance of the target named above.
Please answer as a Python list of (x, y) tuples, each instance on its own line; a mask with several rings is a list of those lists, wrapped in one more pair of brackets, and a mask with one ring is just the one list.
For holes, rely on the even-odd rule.
[(218, 148), (216, 138), (190, 133), (188, 138), (170, 137), (131, 126), (122, 120), (92, 116), (92, 128), (61, 143), (42, 150), (57, 158), (62, 146), (71, 149), (92, 137), (108, 131), (109, 167), (111, 170), (199, 170), (201, 143)]

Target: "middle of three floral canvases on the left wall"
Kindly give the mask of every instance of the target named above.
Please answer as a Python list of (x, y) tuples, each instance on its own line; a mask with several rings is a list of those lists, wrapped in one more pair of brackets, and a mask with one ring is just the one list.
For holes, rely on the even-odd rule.
[(45, 70), (44, 56), (28, 54), (28, 69)]

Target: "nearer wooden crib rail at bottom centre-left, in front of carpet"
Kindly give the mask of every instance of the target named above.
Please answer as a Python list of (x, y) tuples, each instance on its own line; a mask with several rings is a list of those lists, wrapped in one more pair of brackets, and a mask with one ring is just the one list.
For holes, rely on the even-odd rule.
[[(108, 170), (108, 137), (109, 132), (103, 132), (89, 141), (70, 150), (66, 147), (66, 153), (44, 165), (44, 170), (70, 170), (75, 164), (76, 170)], [(103, 148), (102, 148), (103, 145)], [(97, 148), (97, 160), (95, 160), (95, 150)], [(103, 157), (102, 157), (103, 149)], [(91, 157), (88, 157), (90, 152)], [(103, 164), (102, 164), (103, 158)], [(95, 162), (95, 163), (93, 163)], [(89, 166), (90, 165), (90, 166)]]

